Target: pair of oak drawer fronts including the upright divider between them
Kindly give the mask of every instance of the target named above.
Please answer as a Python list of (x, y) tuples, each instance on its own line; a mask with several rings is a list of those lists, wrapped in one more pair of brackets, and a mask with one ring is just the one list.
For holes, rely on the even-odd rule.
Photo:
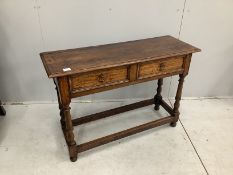
[(156, 77), (159, 75), (177, 74), (182, 71), (183, 57), (172, 57), (139, 63), (135, 66), (120, 66), (72, 75), (69, 78), (70, 89), (72, 93), (79, 93), (92, 89), (103, 89), (107, 86), (114, 87), (114, 85), (121, 84), (123, 86), (124, 83), (136, 83), (137, 80)]

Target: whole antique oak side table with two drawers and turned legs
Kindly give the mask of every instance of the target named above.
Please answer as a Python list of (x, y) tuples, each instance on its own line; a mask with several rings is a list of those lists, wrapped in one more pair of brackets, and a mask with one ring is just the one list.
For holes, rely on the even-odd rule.
[[(170, 123), (175, 127), (185, 76), (188, 74), (192, 53), (200, 49), (172, 36), (60, 50), (41, 53), (49, 78), (53, 78), (60, 109), (60, 122), (69, 149), (71, 161), (78, 153), (94, 147)], [(179, 75), (174, 108), (162, 98), (163, 78)], [(157, 94), (152, 99), (110, 109), (104, 112), (71, 118), (72, 98), (107, 91), (123, 86), (158, 79)], [(170, 116), (148, 122), (80, 145), (76, 144), (73, 126), (82, 125), (105, 117), (154, 104), (162, 106)]]

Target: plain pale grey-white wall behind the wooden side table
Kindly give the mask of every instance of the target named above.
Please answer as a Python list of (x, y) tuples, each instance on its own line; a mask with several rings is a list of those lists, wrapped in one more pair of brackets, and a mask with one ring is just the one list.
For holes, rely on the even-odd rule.
[[(56, 100), (42, 51), (167, 34), (202, 49), (193, 56), (184, 96), (232, 96), (232, 7), (231, 0), (1, 0), (0, 98)], [(174, 96), (176, 83), (165, 80), (165, 96)], [(153, 81), (81, 99), (149, 97), (155, 89)]]

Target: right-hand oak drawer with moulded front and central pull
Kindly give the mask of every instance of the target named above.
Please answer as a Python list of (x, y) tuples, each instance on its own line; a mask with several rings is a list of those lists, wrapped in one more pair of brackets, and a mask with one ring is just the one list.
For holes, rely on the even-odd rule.
[(166, 60), (150, 61), (139, 64), (138, 78), (169, 74), (183, 70), (183, 57), (172, 57)]

